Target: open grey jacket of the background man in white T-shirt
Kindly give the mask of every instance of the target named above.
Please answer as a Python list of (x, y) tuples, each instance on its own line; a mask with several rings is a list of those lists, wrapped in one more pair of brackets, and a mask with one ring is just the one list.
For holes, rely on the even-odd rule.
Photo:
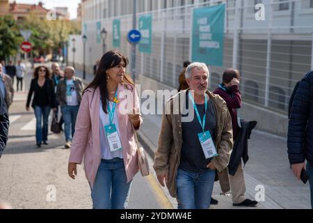
[[(79, 77), (73, 77), (74, 79), (74, 87), (75, 87), (75, 91), (77, 93), (77, 98), (79, 101), (79, 104), (81, 103), (81, 98), (83, 95), (83, 82), (81, 81), (81, 79)], [(58, 86), (56, 88), (56, 100), (58, 101), (58, 105), (60, 105), (61, 107), (64, 107), (67, 105), (66, 103), (66, 79), (60, 79), (60, 81), (58, 82)]]

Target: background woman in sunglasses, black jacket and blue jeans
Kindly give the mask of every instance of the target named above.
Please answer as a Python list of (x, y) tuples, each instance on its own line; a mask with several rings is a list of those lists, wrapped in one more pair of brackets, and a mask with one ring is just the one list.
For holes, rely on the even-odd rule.
[[(33, 95), (34, 94), (34, 95)], [(33, 101), (31, 103), (31, 98)], [(47, 67), (39, 66), (33, 72), (31, 87), (26, 102), (26, 111), (29, 112), (29, 105), (33, 107), (36, 118), (36, 145), (41, 147), (42, 143), (48, 145), (48, 118), (50, 110), (56, 109), (56, 99), (50, 72)]]

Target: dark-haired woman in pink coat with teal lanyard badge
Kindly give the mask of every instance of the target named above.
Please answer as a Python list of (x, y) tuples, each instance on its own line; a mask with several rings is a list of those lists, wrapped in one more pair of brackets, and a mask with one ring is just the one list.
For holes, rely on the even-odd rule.
[(128, 59), (117, 50), (102, 56), (95, 79), (83, 91), (70, 152), (68, 174), (84, 160), (93, 208), (127, 208), (138, 172), (134, 131), (143, 119)]

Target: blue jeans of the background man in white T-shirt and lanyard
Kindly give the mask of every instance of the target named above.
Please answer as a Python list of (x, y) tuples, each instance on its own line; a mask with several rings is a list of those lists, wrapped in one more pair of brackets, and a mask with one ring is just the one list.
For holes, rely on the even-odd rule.
[(64, 134), (66, 141), (72, 141), (72, 137), (75, 132), (75, 123), (77, 114), (79, 111), (79, 105), (77, 106), (64, 106), (61, 107), (61, 112), (64, 121)]

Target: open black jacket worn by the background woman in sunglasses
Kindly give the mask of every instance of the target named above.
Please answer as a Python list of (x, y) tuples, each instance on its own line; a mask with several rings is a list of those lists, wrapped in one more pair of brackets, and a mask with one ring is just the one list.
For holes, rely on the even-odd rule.
[[(29, 95), (27, 97), (26, 107), (29, 107), (31, 104), (31, 107), (35, 107), (36, 102), (38, 100), (38, 93), (37, 93), (37, 82), (38, 79), (32, 79), (31, 80), (31, 88), (29, 89)], [(47, 82), (47, 95), (49, 100), (49, 105), (51, 108), (56, 108), (56, 94), (54, 93), (54, 88), (52, 84), (51, 79), (46, 79)], [(45, 83), (46, 84), (46, 83)], [(33, 102), (31, 103), (31, 96), (35, 93), (33, 96)]]

